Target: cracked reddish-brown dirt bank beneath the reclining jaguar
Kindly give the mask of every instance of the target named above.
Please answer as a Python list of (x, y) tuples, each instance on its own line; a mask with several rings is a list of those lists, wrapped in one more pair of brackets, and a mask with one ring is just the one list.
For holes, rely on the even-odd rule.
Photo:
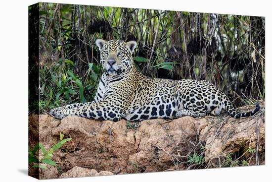
[[(79, 117), (56, 120), (29, 117), (31, 148), (48, 150), (63, 133), (72, 140), (53, 153), (57, 167), (40, 170), (40, 178), (69, 178), (262, 165), (265, 161), (264, 114), (229, 117), (183, 117), (173, 121), (94, 121)], [(41, 152), (41, 151), (40, 151)], [(30, 175), (39, 174), (30, 168)]]

